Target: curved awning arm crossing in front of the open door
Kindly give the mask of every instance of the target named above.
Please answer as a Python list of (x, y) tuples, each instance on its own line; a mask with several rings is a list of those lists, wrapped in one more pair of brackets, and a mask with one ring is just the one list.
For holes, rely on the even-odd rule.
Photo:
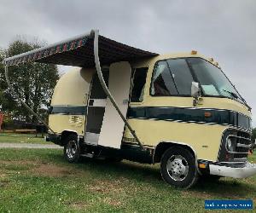
[(120, 111), (116, 101), (113, 99), (113, 96), (111, 95), (110, 91), (108, 90), (108, 87), (104, 81), (103, 75), (102, 75), (102, 68), (99, 60), (99, 43), (98, 43), (98, 37), (99, 37), (99, 30), (93, 30), (94, 32), (94, 58), (95, 58), (95, 65), (96, 65), (96, 71), (98, 78), (102, 84), (102, 88), (105, 91), (106, 95), (108, 95), (109, 100), (112, 102), (113, 107), (116, 109), (116, 111), (119, 113), (119, 116), (122, 118), (124, 121), (125, 125), (128, 127), (128, 129), (131, 131), (131, 135), (134, 136), (136, 141), (138, 142), (139, 146), (143, 148), (142, 142), (138, 139), (135, 130), (131, 128), (131, 125), (127, 122), (125, 116), (123, 113)]

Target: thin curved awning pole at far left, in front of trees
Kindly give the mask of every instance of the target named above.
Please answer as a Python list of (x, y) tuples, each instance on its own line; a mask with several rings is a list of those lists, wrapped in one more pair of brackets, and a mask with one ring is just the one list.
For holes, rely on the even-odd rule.
[(40, 118), (36, 112), (33, 112), (33, 111), (32, 111), (32, 108), (31, 108), (31, 107), (28, 107), (28, 106), (26, 105), (26, 103), (21, 100), (20, 96), (15, 93), (15, 89), (13, 88), (13, 86), (11, 85), (11, 83), (10, 83), (10, 81), (9, 81), (8, 65), (6, 64), (6, 61), (4, 61), (4, 71), (5, 71), (5, 72), (4, 72), (5, 79), (6, 79), (6, 82), (7, 82), (8, 86), (9, 86), (11, 95), (14, 95), (15, 98), (16, 98), (18, 101), (20, 101), (20, 103), (21, 103), (29, 112), (32, 113), (32, 115), (34, 115), (36, 118), (38, 118), (38, 121), (40, 121), (42, 124), (44, 124), (53, 134), (55, 134), (54, 130), (52, 130), (52, 129), (49, 127), (49, 125), (44, 122), (44, 119), (43, 119), (43, 118)]

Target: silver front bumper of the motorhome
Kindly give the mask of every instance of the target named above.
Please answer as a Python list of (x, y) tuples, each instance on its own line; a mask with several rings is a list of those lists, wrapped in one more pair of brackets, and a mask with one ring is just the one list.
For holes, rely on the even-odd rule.
[(256, 164), (247, 162), (238, 167), (236, 164), (209, 164), (210, 174), (214, 176), (229, 176), (235, 178), (245, 178), (256, 174)]

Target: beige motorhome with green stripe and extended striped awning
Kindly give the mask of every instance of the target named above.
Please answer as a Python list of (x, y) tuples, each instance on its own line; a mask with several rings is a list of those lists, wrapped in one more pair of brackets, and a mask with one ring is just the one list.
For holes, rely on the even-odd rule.
[(56, 83), (47, 137), (70, 163), (160, 163), (176, 187), (256, 174), (247, 161), (251, 108), (212, 58), (195, 50), (159, 55), (93, 30), (4, 63), (29, 61), (76, 66)]

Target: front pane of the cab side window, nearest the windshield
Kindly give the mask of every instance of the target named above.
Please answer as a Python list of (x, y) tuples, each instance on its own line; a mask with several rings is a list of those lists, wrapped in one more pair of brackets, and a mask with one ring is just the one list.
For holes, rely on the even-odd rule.
[(172, 77), (177, 85), (179, 95), (191, 95), (193, 77), (189, 66), (184, 59), (170, 59), (167, 63), (171, 69)]

